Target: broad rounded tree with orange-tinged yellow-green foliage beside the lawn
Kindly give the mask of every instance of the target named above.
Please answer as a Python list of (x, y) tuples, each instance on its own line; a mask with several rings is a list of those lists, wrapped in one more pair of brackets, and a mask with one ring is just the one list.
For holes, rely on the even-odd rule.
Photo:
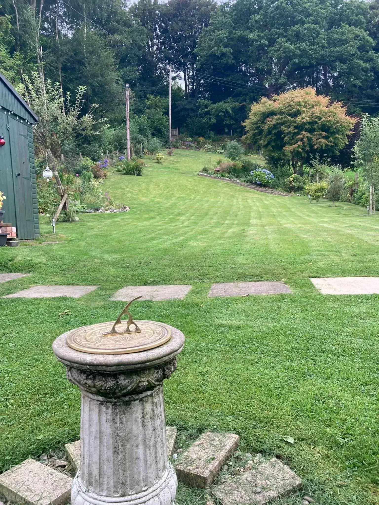
[(354, 123), (341, 103), (308, 87), (253, 104), (244, 141), (261, 149), (271, 163), (286, 160), (294, 174), (301, 174), (310, 154), (338, 154)]

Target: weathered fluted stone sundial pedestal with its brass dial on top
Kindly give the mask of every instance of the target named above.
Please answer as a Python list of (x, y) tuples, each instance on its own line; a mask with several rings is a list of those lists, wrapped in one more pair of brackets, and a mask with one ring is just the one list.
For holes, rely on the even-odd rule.
[(53, 343), (67, 379), (81, 390), (81, 464), (72, 505), (170, 505), (175, 499), (162, 383), (175, 371), (184, 335), (162, 323), (134, 322), (128, 306), (128, 322), (120, 316), (114, 325), (77, 328)]

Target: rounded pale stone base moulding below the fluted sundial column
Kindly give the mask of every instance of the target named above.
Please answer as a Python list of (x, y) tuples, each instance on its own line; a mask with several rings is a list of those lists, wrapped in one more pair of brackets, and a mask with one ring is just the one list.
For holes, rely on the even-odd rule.
[(83, 485), (80, 470), (72, 484), (71, 503), (75, 505), (171, 505), (175, 503), (177, 479), (171, 463), (163, 477), (154, 486), (129, 496), (101, 496), (90, 492)]

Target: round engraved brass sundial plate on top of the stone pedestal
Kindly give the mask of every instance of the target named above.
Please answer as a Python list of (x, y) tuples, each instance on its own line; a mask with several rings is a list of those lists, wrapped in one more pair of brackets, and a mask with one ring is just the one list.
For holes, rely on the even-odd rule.
[[(133, 321), (134, 323), (134, 321)], [(99, 323), (73, 330), (67, 337), (67, 345), (72, 349), (90, 354), (128, 354), (153, 349), (168, 342), (171, 330), (163, 323), (155, 321), (135, 321), (140, 332), (123, 333), (127, 322), (118, 325), (118, 333), (111, 333), (114, 323)], [(104, 335), (104, 334), (109, 335)]]

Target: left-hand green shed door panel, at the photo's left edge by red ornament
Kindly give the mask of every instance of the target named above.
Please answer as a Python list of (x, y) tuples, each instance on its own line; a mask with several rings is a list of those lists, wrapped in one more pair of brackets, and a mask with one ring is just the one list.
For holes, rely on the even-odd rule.
[(11, 143), (8, 131), (8, 115), (0, 111), (0, 135), (5, 139), (5, 145), (0, 147), (0, 191), (6, 196), (3, 202), (4, 222), (16, 226), (16, 209), (13, 188), (13, 174), (11, 162)]

